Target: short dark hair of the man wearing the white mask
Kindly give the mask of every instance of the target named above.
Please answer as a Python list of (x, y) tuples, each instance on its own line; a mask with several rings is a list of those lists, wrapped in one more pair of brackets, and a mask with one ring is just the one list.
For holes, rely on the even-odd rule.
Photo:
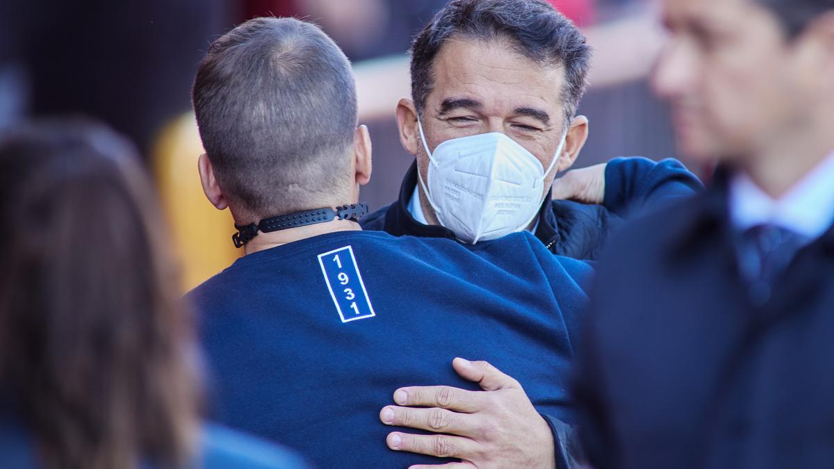
[(434, 86), (435, 56), (456, 36), (506, 38), (535, 63), (564, 66), (565, 116), (575, 113), (588, 86), (590, 47), (580, 29), (544, 0), (453, 0), (441, 9), (411, 44), (411, 97), (418, 113)]

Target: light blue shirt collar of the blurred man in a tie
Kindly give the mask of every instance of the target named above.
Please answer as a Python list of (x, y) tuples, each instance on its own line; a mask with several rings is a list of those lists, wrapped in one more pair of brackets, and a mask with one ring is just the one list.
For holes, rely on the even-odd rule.
[(730, 184), (730, 214), (737, 229), (774, 224), (816, 240), (834, 223), (834, 153), (779, 199), (746, 174), (736, 174)]

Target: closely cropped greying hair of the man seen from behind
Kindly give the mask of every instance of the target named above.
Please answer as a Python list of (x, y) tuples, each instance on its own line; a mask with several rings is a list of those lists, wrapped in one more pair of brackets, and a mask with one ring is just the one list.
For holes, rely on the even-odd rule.
[(252, 214), (318, 208), (344, 188), (356, 85), (314, 24), (254, 18), (226, 33), (199, 63), (192, 101), (220, 188)]

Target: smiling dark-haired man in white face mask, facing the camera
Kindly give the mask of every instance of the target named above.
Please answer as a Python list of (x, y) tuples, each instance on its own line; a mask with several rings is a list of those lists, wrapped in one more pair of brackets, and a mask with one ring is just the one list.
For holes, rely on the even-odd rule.
[(363, 228), (466, 243), (529, 229), (554, 254), (593, 260), (631, 210), (700, 189), (674, 160), (615, 159), (582, 170), (595, 177), (575, 196), (591, 204), (551, 200), (588, 135), (574, 114), (589, 68), (580, 30), (543, 0), (451, 2), (414, 40), (413, 99), (397, 107), (416, 161)]

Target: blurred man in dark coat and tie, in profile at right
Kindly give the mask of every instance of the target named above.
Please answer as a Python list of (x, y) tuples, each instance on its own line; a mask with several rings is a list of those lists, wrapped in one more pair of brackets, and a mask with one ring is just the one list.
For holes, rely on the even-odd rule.
[(602, 468), (834, 461), (834, 2), (663, 0), (695, 199), (600, 261), (578, 397)]

